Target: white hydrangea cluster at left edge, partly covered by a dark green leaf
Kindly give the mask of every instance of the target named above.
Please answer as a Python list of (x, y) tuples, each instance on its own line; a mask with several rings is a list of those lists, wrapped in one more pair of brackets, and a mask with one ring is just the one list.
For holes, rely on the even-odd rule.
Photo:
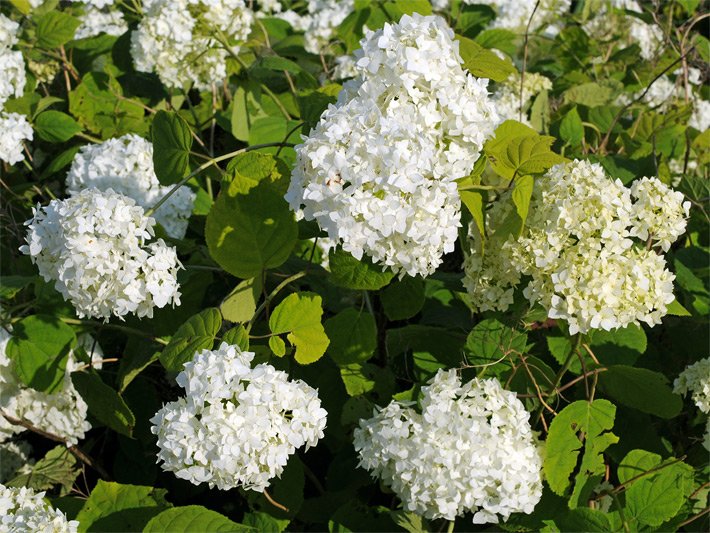
[[(10, 334), (0, 329), (0, 408), (14, 418), (26, 420), (35, 427), (66, 439), (67, 445), (77, 444), (91, 429), (91, 424), (86, 420), (88, 406), (71, 380), (71, 373), (81, 366), (73, 352), (67, 358), (62, 388), (47, 394), (27, 387), (19, 380), (7, 356), (9, 339)], [(93, 347), (95, 343), (91, 337), (79, 337), (79, 344), (87, 350), (93, 349), (93, 355), (101, 358), (102, 352), (100, 348)], [(94, 366), (101, 367), (100, 364)], [(2, 418), (0, 442), (21, 431), (24, 431), (22, 426), (12, 425)]]

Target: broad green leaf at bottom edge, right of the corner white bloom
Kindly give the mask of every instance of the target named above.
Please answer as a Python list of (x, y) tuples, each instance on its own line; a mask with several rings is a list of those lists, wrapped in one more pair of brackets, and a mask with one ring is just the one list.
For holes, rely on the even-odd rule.
[(100, 479), (76, 517), (79, 532), (142, 531), (151, 518), (170, 507), (164, 493), (164, 489)]

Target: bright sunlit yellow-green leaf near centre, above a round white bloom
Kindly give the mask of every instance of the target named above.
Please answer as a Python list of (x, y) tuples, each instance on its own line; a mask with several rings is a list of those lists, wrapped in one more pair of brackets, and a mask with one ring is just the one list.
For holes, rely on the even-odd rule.
[(322, 315), (317, 294), (289, 294), (269, 317), (269, 327), (275, 335), (287, 333), (286, 338), (296, 347), (296, 361), (307, 365), (320, 359), (330, 343), (321, 324)]

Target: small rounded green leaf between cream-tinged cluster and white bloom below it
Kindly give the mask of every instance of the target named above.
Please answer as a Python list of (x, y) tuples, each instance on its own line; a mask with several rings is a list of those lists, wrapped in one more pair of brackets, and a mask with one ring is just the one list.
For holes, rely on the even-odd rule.
[(517, 359), (519, 354), (526, 352), (527, 342), (527, 334), (494, 318), (487, 318), (476, 324), (468, 334), (464, 354), (468, 364), (500, 375), (511, 366), (506, 359)]

